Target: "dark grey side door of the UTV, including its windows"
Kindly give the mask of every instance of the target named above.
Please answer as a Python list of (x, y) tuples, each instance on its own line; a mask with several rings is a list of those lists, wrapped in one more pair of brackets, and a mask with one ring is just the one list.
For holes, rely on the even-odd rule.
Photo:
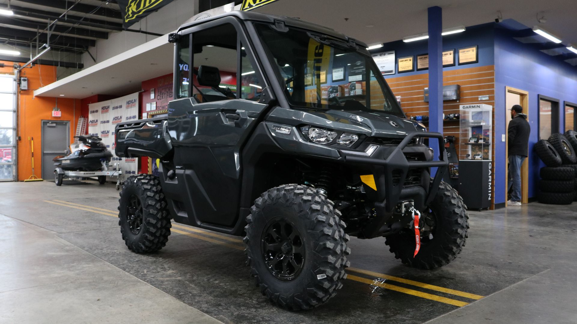
[(177, 170), (177, 184), (168, 187), (177, 191), (170, 197), (180, 210), (175, 218), (230, 227), (239, 213), (241, 147), (267, 107), (264, 79), (235, 18), (182, 33), (174, 73), (181, 99), (168, 106)]

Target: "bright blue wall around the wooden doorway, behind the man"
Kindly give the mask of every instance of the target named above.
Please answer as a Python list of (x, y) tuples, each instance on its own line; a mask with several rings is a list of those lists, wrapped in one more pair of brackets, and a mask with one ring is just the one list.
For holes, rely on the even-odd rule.
[(509, 35), (510, 31), (497, 26), (494, 29), (495, 64), (495, 203), (505, 202), (505, 87), (529, 91), (529, 197), (537, 196), (539, 169), (545, 166), (533, 152), (538, 139), (538, 95), (561, 100), (559, 129), (563, 130), (563, 100), (577, 102), (577, 68), (524, 44)]

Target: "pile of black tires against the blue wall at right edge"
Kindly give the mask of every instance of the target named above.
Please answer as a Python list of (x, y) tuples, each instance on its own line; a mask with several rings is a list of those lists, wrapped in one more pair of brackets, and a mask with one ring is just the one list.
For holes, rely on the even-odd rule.
[(545, 204), (577, 201), (577, 132), (554, 133), (549, 140), (539, 140), (535, 151), (547, 165), (539, 172), (537, 200)]

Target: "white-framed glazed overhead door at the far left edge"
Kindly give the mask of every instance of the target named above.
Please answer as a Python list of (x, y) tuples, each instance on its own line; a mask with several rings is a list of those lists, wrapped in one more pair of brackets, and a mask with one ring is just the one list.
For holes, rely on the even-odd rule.
[(16, 178), (16, 80), (0, 75), (0, 181)]

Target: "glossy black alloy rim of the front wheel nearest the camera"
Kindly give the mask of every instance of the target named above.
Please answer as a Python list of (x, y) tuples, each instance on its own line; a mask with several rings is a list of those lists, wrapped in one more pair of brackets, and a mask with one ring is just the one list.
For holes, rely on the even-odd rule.
[(305, 263), (305, 249), (301, 233), (286, 218), (268, 222), (263, 232), (261, 247), (268, 271), (280, 281), (298, 277)]

